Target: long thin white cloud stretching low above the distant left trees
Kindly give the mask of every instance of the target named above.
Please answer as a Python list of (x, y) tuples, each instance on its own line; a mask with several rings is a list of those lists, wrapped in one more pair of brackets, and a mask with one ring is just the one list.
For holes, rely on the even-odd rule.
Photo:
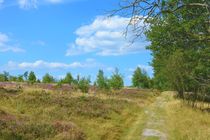
[(70, 69), (70, 68), (91, 68), (96, 67), (99, 64), (95, 60), (87, 59), (84, 62), (72, 62), (72, 63), (61, 63), (61, 62), (46, 62), (43, 60), (37, 60), (35, 62), (21, 62), (17, 63), (9, 61), (7, 66), (10, 69)]

